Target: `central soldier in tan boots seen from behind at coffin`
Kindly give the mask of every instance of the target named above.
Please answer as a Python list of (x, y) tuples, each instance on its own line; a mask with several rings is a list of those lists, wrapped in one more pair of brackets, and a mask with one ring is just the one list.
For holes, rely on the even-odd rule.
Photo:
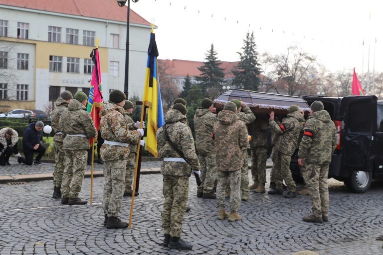
[[(235, 114), (237, 107), (233, 102), (226, 102), (223, 111), (218, 113), (218, 121), (213, 127), (213, 143), (218, 169), (217, 182), (217, 219), (228, 218), (239, 221), (237, 213), (240, 207), (240, 180), (243, 160), (243, 148), (249, 146), (246, 125)], [(225, 212), (225, 188), (230, 185), (230, 214)]]

